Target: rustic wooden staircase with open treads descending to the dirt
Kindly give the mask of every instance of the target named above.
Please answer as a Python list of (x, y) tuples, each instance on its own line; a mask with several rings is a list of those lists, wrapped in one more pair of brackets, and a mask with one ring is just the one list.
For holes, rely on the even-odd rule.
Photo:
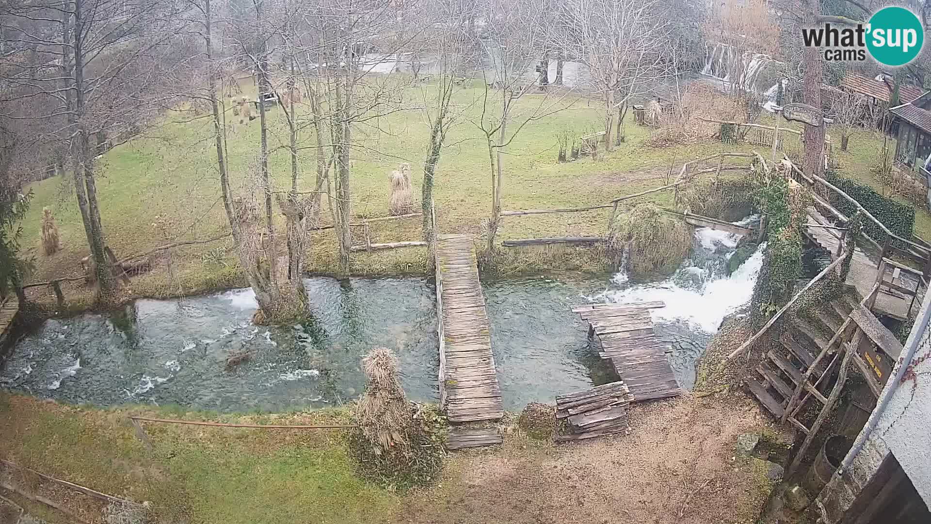
[[(827, 384), (822, 378), (836, 363), (836, 358), (826, 365), (823, 359), (816, 363), (817, 356), (841, 338), (841, 332), (846, 328), (842, 319), (849, 317), (857, 301), (842, 296), (830, 305), (830, 310), (820, 311), (814, 319), (793, 318), (779, 338), (780, 347), (766, 352), (765, 358), (757, 365), (758, 376), (744, 380), (749, 393), (760, 401), (762, 407), (776, 419), (788, 421), (804, 434), (809, 433), (809, 428), (795, 419), (803, 403), (787, 413), (789, 402), (802, 385), (806, 399), (815, 397), (822, 404), (827, 404), (824, 394)], [(827, 333), (833, 336), (829, 339), (825, 336)]]

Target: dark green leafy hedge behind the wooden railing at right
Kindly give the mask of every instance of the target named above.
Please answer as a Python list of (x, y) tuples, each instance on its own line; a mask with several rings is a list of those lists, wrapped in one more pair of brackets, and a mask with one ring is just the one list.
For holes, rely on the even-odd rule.
[[(886, 228), (889, 228), (893, 234), (905, 240), (911, 240), (911, 235), (915, 230), (915, 208), (913, 206), (886, 198), (877, 193), (872, 187), (859, 184), (849, 178), (843, 178), (843, 176), (839, 176), (835, 172), (825, 172), (824, 178), (853, 197), (854, 200), (857, 200), (864, 209), (882, 222)], [(848, 217), (857, 214), (857, 207), (854, 204), (833, 192), (830, 192), (830, 203)], [(872, 220), (863, 221), (863, 230), (874, 241), (880, 243), (885, 241), (885, 231)]]

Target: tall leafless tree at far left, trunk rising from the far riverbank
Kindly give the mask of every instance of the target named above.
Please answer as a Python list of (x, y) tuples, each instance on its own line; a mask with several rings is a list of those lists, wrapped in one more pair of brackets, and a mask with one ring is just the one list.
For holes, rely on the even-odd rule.
[[(7, 4), (0, 12), (5, 33), (12, 33), (7, 41), (48, 57), (5, 78), (11, 85), (28, 86), (31, 96), (47, 102), (44, 110), (4, 116), (59, 126), (51, 134), (68, 145), (93, 274), (106, 294), (113, 284), (94, 159), (155, 120), (155, 101), (165, 88), (159, 79), (172, 67), (166, 55), (176, 48), (167, 44), (184, 40), (172, 29), (176, 9), (160, 0), (32, 0)], [(23, 29), (19, 21), (32, 23)]]

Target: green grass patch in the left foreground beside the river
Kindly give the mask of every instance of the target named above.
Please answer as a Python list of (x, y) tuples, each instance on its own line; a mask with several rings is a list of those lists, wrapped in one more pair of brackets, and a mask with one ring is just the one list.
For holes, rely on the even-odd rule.
[[(149, 423), (150, 450), (136, 438), (126, 418), (130, 413), (178, 416), (175, 410), (82, 409), (0, 393), (0, 457), (108, 494), (149, 501), (160, 522), (371, 523), (391, 521), (398, 511), (398, 494), (358, 478), (338, 432)], [(260, 417), (186, 416), (262, 423)], [(345, 410), (331, 409), (275, 420), (344, 422), (346, 416)]]

